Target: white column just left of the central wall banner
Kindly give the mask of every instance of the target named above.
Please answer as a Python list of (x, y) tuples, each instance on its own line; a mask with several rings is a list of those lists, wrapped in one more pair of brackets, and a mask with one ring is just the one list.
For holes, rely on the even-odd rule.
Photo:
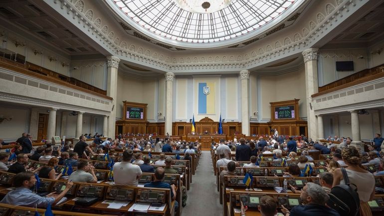
[(173, 92), (174, 92), (175, 74), (172, 72), (166, 73), (166, 113), (165, 113), (165, 135), (172, 135), (172, 117), (173, 117)]

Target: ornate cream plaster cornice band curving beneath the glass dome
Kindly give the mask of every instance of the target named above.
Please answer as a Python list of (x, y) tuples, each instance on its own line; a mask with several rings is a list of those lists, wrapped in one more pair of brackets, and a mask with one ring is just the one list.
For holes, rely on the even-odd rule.
[[(131, 62), (173, 72), (192, 72), (195, 70), (238, 71), (302, 52), (303, 49), (311, 47), (312, 44), (326, 35), (327, 32), (338, 26), (345, 17), (349, 17), (353, 13), (354, 7), (359, 6), (358, 8), (360, 8), (367, 2), (368, 0), (359, 0), (358, 2), (356, 0), (336, 0), (333, 3), (324, 1), (322, 3), (324, 7), (319, 6), (321, 9), (317, 11), (315, 19), (308, 20), (306, 25), (297, 25), (298, 30), (302, 28), (302, 32), (288, 35), (285, 39), (276, 37), (280, 41), (277, 40), (271, 44), (255, 44), (252, 50), (245, 49), (246, 51), (240, 55), (218, 54), (216, 56), (213, 54), (202, 56), (204, 53), (200, 53), (198, 56), (193, 56), (192, 54), (189, 57), (179, 57), (177, 56), (179, 53), (173, 53), (173, 51), (167, 50), (163, 53), (158, 53), (157, 51), (143, 48), (141, 44), (130, 43), (120, 39), (119, 35), (115, 35), (113, 31), (115, 29), (104, 25), (103, 23), (105, 22), (101, 20), (102, 18), (94, 17), (92, 8), (84, 4), (82, 0), (53, 1), (54, 4), (60, 3), (60, 8), (68, 16), (72, 16), (71, 18), (66, 16), (68, 20), (77, 20), (79, 25), (84, 28), (82, 29), (83, 31), (90, 32), (92, 37), (96, 37), (96, 42), (102, 44), (113, 55)], [(115, 30), (115, 32), (119, 31)]]

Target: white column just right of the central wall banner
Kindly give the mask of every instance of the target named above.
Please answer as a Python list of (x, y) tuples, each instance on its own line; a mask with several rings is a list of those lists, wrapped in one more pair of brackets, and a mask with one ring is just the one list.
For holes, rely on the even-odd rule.
[(249, 70), (240, 71), (241, 79), (241, 133), (249, 135)]

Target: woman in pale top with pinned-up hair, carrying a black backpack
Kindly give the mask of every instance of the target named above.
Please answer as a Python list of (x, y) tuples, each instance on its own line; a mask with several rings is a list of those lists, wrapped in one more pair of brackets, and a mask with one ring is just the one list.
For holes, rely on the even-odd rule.
[[(348, 180), (350, 184), (354, 184), (357, 187), (360, 198), (360, 215), (372, 216), (368, 202), (372, 201), (375, 196), (374, 175), (362, 168), (362, 156), (355, 147), (343, 148), (341, 155), (345, 164), (348, 165), (348, 167), (345, 168)], [(336, 169), (333, 174), (333, 187), (345, 184), (341, 169)]]

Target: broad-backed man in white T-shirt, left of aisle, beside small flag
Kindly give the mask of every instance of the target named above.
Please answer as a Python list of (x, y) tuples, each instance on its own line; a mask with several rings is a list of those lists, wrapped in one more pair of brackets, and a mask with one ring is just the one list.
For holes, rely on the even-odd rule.
[(132, 149), (123, 152), (123, 161), (113, 165), (113, 179), (115, 185), (134, 186), (139, 183), (143, 174), (138, 165), (131, 164), (133, 157)]

